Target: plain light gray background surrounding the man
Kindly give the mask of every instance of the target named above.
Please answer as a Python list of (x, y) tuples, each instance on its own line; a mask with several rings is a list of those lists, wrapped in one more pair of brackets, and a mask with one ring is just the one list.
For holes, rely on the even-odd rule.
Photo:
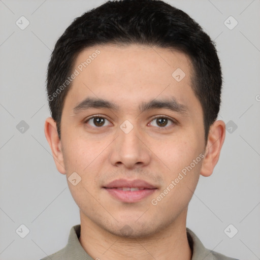
[[(103, 2), (0, 0), (1, 260), (51, 254), (66, 245), (71, 227), (80, 223), (66, 176), (56, 170), (44, 135), (50, 115), (45, 76), (64, 29)], [(232, 120), (213, 175), (200, 177), (187, 226), (209, 249), (260, 259), (260, 1), (168, 3), (191, 15), (215, 40), (224, 77), (219, 119)], [(21, 16), (30, 23), (24, 30), (16, 25)], [(230, 16), (238, 22), (233, 29), (224, 24)], [(225, 23), (234, 26), (235, 20)], [(29, 126), (24, 133), (16, 128), (21, 120)], [(29, 229), (25, 238), (16, 233), (21, 224)], [(233, 238), (224, 232), (229, 224), (238, 230)]]

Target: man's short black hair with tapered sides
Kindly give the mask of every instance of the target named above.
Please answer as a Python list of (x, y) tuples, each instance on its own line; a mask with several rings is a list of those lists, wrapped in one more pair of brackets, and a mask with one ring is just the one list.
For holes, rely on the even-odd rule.
[(192, 89), (203, 108), (207, 142), (221, 101), (222, 74), (215, 43), (185, 12), (160, 0), (108, 1), (77, 17), (58, 39), (46, 82), (59, 138), (63, 104), (71, 86), (64, 87), (64, 82), (72, 74), (75, 59), (83, 49), (104, 44), (141, 44), (187, 54), (192, 64)]

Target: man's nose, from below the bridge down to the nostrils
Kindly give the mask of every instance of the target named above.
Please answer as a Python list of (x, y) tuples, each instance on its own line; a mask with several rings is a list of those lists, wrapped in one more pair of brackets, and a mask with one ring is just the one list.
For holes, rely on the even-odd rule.
[[(123, 128), (122, 128), (123, 129)], [(137, 131), (137, 127), (128, 133), (118, 129), (118, 137), (112, 147), (110, 156), (111, 163), (114, 166), (123, 165), (125, 168), (140, 168), (150, 163), (151, 153), (146, 144), (144, 135)]]

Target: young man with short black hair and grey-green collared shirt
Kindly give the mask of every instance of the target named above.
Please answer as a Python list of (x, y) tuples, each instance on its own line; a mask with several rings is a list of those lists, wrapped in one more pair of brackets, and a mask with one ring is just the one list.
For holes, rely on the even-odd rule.
[(209, 36), (162, 1), (109, 1), (74, 20), (49, 63), (45, 135), (81, 224), (51, 259), (234, 259), (186, 228), (224, 142), (221, 84)]

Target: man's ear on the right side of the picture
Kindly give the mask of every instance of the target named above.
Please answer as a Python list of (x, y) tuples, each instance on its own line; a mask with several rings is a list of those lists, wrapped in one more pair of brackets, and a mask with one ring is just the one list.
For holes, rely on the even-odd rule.
[(220, 150), (225, 139), (225, 123), (222, 120), (215, 121), (209, 129), (208, 142), (205, 149), (205, 157), (202, 163), (201, 175), (208, 177), (218, 162)]

